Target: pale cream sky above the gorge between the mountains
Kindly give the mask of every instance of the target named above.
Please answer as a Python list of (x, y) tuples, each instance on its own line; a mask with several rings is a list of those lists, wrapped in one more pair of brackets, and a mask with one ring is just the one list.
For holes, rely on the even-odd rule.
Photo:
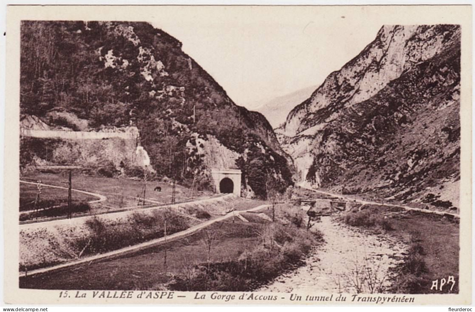
[(305, 8), (262, 9), (266, 8), (220, 8), (175, 14), (173, 19), (158, 10), (151, 22), (179, 39), (183, 51), (237, 105), (249, 109), (296, 90), (317, 88), (332, 71), (358, 55), (382, 26), (356, 12), (334, 10), (322, 16)]

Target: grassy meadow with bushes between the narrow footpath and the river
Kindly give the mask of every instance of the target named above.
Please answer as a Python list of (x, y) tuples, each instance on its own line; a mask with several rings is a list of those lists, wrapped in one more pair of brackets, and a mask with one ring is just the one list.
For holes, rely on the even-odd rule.
[(33, 289), (252, 290), (302, 265), (321, 244), (321, 234), (306, 231), (304, 215), (298, 207), (280, 205), (272, 222), (272, 208), (258, 205), (200, 224), (208, 226), (190, 235), (177, 236), (192, 228), (171, 235), (176, 239), (163, 244), (28, 274), (19, 283)]

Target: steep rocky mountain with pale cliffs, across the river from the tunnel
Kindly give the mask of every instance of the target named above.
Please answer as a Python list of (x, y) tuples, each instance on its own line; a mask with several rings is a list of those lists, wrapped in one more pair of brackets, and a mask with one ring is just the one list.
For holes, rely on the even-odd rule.
[(277, 129), (300, 180), (456, 209), (460, 26), (383, 26)]

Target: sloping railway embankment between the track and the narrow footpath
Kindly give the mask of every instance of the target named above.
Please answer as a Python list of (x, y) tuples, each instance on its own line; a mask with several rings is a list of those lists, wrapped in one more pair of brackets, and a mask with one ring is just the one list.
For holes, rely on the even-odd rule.
[(242, 201), (232, 195), (191, 203), (152, 207), (134, 211), (85, 216), (20, 226), (19, 269), (32, 270), (74, 261), (125, 246), (183, 231), (223, 215), (231, 202)]

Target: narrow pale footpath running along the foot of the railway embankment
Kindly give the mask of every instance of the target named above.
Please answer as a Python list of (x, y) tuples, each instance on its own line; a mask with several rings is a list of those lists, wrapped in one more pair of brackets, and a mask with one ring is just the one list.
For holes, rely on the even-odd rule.
[[(227, 196), (232, 196), (232, 194), (227, 195)], [(220, 197), (220, 198), (222, 198), (222, 197)], [(207, 200), (209, 200), (209, 199), (207, 199)], [(195, 203), (204, 202), (204, 201), (205, 200), (198, 200)], [(111, 251), (111, 252), (108, 252), (108, 253), (98, 254), (98, 255), (95, 255), (95, 256), (91, 256), (91, 257), (86, 257), (86, 258), (79, 259), (79, 260), (69, 262), (69, 263), (64, 263), (64, 264), (59, 264), (59, 265), (55, 265), (55, 266), (51, 266), (51, 267), (47, 267), (47, 268), (28, 271), (28, 273), (20, 272), (19, 277), (25, 276), (26, 274), (32, 275), (32, 274), (46, 273), (46, 272), (50, 272), (50, 271), (54, 271), (54, 270), (74, 266), (74, 265), (77, 265), (77, 264), (82, 264), (82, 263), (92, 262), (92, 261), (99, 260), (99, 259), (110, 258), (110, 257), (113, 257), (113, 256), (128, 254), (128, 253), (131, 253), (131, 252), (137, 252), (137, 251), (140, 251), (142, 249), (150, 248), (152, 246), (156, 246), (156, 245), (160, 245), (160, 244), (164, 244), (164, 243), (169, 243), (171, 241), (174, 241), (174, 240), (189, 236), (191, 234), (194, 234), (194, 233), (198, 232), (199, 230), (201, 230), (201, 229), (203, 229), (203, 228), (205, 228), (205, 227), (207, 227), (207, 226), (209, 226), (213, 223), (226, 220), (226, 219), (228, 219), (232, 216), (238, 215), (240, 213), (258, 211), (258, 210), (262, 210), (262, 209), (264, 209), (266, 207), (269, 207), (269, 206), (270, 205), (260, 205), (260, 206), (250, 208), (250, 209), (247, 209), (247, 210), (235, 211), (234, 213), (230, 212), (230, 213), (228, 213), (226, 215), (223, 215), (223, 216), (220, 216), (216, 219), (203, 222), (202, 224), (198, 224), (198, 225), (195, 225), (193, 227), (190, 227), (189, 229), (187, 229), (185, 231), (181, 231), (181, 232), (178, 232), (178, 233), (175, 233), (175, 234), (171, 234), (171, 235), (168, 235), (166, 237), (157, 238), (157, 239), (154, 239), (152, 241), (148, 241), (148, 242), (141, 243), (141, 244), (136, 244), (136, 245), (133, 245), (133, 246), (129, 246), (129, 247), (125, 247), (125, 248), (122, 248), (122, 249), (114, 250), (114, 251)], [(152, 209), (152, 208), (150, 208), (150, 209)], [(69, 219), (68, 221), (71, 221), (71, 220), (74, 220), (74, 219)], [(58, 221), (63, 221), (63, 220), (58, 220)]]

